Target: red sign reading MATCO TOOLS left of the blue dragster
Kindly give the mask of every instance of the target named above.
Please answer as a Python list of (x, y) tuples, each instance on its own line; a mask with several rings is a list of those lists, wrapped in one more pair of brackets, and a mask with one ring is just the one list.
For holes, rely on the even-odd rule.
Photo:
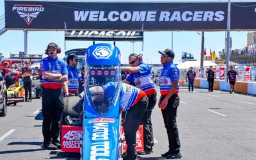
[(62, 125), (61, 151), (80, 153), (80, 139), (83, 136), (83, 127)]

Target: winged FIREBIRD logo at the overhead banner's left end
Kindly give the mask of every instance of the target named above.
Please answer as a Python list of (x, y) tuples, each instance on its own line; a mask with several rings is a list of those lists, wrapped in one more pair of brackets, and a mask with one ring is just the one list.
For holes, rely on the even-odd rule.
[(14, 4), (12, 11), (17, 11), (20, 17), (30, 25), (40, 12), (44, 12), (44, 7), (35, 4)]

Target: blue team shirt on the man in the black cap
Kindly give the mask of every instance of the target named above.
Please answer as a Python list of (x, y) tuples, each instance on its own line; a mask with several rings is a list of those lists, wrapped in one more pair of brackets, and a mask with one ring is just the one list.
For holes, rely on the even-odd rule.
[[(168, 94), (172, 82), (179, 82), (179, 69), (172, 61), (163, 65), (163, 69), (160, 74), (160, 93), (161, 95)], [(174, 93), (179, 93), (179, 84)]]

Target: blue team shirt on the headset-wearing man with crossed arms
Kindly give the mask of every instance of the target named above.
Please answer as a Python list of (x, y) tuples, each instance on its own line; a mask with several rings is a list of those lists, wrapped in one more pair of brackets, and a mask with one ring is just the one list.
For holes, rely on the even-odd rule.
[[(54, 60), (51, 56), (47, 56), (40, 61), (40, 70), (41, 72), (49, 72), (51, 74), (62, 74), (62, 76), (68, 73), (65, 62), (58, 57)], [(63, 87), (63, 82), (47, 80), (44, 76), (42, 76), (41, 82), (44, 88), (60, 89)]]

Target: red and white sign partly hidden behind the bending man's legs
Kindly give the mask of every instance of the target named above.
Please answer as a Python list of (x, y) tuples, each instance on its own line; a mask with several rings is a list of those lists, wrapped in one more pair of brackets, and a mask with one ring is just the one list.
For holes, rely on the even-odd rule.
[[(124, 128), (121, 127), (121, 135), (124, 138), (124, 145), (123, 145), (123, 151), (126, 152), (127, 150), (127, 145), (125, 141), (125, 136), (124, 136)], [(143, 141), (143, 125), (140, 125), (138, 128), (138, 131), (136, 132), (136, 150), (144, 150), (144, 141)]]

